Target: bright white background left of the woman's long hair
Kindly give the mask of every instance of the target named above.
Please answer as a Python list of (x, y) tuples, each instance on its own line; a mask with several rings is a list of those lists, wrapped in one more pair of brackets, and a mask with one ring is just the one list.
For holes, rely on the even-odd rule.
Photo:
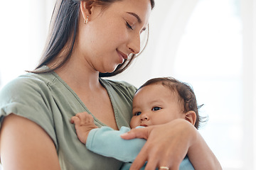
[(35, 68), (45, 44), (53, 0), (0, 0), (0, 89)]

